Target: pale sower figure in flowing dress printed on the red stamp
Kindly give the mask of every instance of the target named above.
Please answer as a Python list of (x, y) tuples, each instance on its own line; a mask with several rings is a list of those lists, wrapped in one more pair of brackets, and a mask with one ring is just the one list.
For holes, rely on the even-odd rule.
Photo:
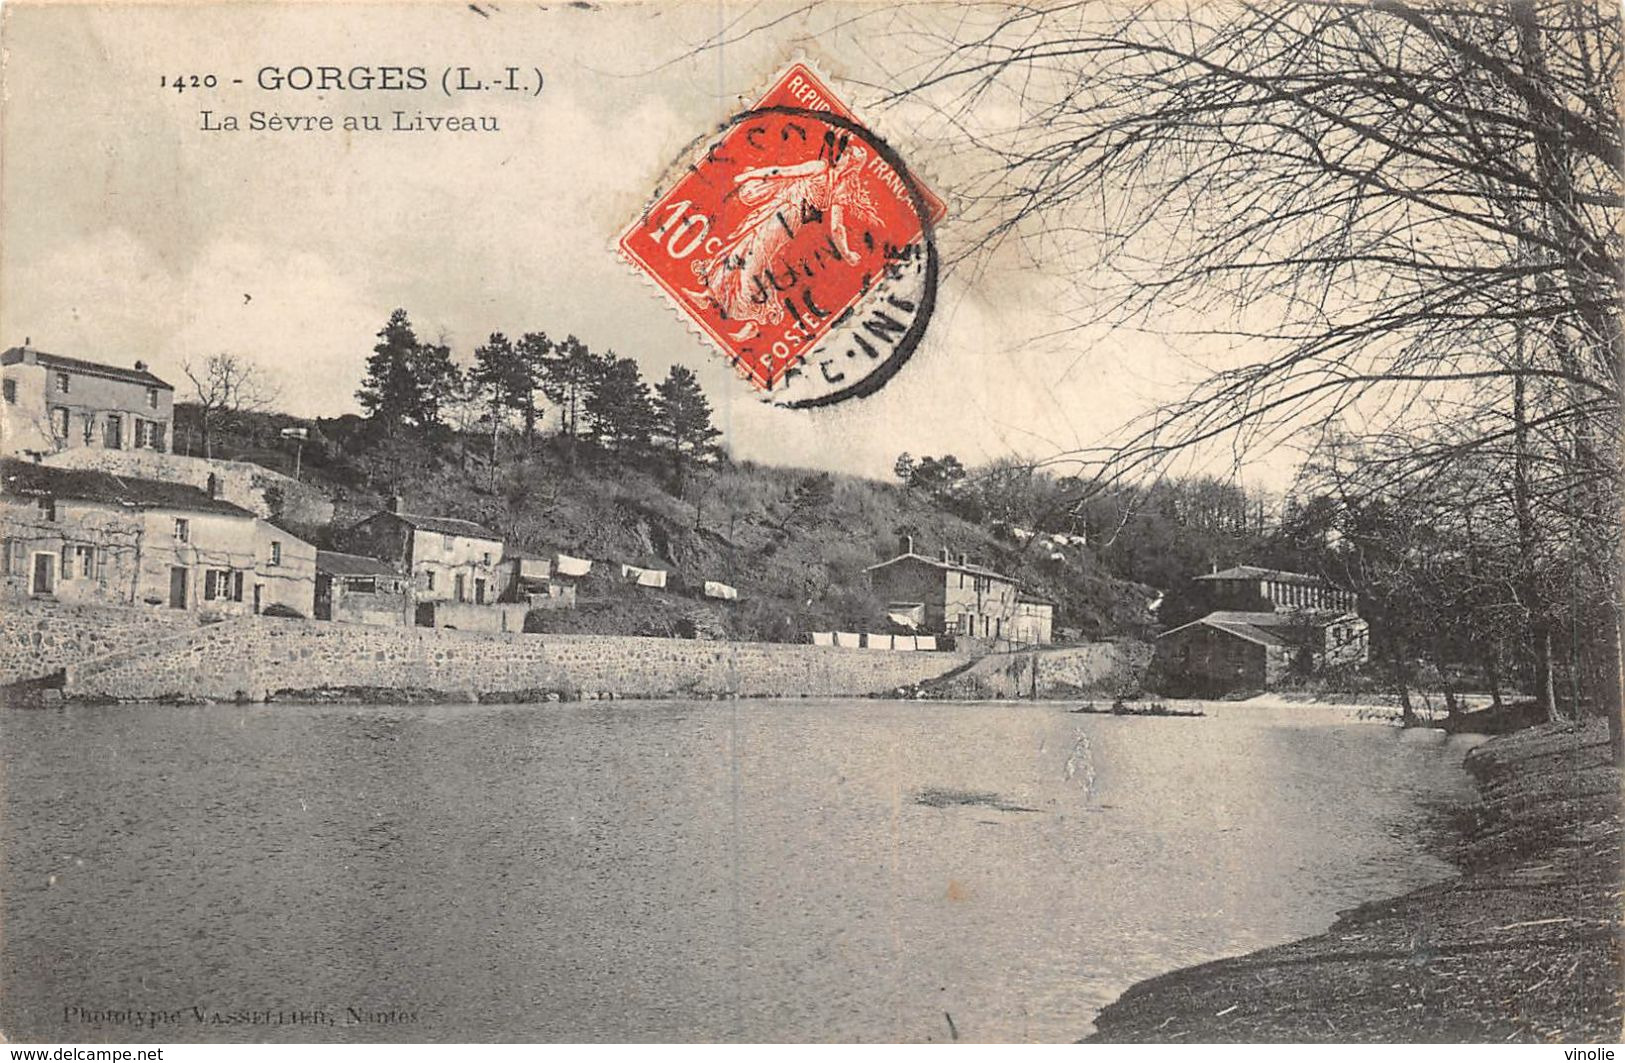
[(777, 325), (785, 309), (767, 289), (764, 276), (774, 268), (778, 252), (795, 236), (795, 224), (809, 218), (829, 221), (829, 237), (835, 254), (847, 265), (860, 262), (847, 236), (850, 219), (879, 223), (863, 182), (868, 151), (848, 143), (832, 164), (826, 158), (790, 166), (762, 166), (734, 176), (738, 198), (751, 208), (733, 228), (722, 249), (710, 258), (692, 263), (702, 289), (684, 289), (696, 304), (715, 302), (728, 320), (741, 322), (728, 333), (734, 340), (752, 340), (762, 325)]

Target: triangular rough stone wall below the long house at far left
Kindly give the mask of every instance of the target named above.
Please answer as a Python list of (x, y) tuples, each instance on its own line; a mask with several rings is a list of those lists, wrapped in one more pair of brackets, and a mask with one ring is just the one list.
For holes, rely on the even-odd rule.
[(0, 598), (0, 683), (39, 679), (67, 665), (119, 653), (197, 627), (177, 610)]

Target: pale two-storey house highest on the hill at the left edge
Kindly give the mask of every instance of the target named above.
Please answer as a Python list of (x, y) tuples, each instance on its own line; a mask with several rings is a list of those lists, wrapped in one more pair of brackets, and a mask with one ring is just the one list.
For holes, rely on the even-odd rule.
[(0, 388), (5, 455), (167, 452), (174, 439), (176, 388), (146, 362), (125, 369), (15, 346), (0, 353)]

